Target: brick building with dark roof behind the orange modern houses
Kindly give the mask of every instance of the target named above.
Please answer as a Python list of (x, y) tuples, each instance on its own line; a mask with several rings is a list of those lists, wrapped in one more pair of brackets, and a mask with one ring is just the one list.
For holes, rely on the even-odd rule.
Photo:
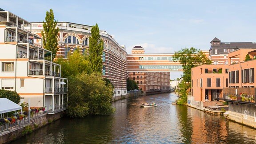
[(237, 49), (256, 48), (256, 42), (221, 42), (218, 38), (211, 41), (209, 49), (209, 59), (212, 64), (233, 64), (238, 63), (238, 58), (233, 58), (231, 63), (228, 63), (228, 53)]

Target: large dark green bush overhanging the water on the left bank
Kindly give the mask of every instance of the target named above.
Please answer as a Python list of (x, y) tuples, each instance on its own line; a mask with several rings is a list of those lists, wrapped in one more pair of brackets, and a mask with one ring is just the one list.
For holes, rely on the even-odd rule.
[(101, 73), (82, 72), (71, 77), (69, 85), (68, 116), (109, 115), (114, 112), (111, 105), (113, 88), (105, 84)]

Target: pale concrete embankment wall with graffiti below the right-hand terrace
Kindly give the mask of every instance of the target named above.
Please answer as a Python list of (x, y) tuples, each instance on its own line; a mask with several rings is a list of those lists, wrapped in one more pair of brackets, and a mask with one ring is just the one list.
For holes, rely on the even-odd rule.
[(254, 104), (228, 103), (228, 119), (256, 128), (256, 106)]

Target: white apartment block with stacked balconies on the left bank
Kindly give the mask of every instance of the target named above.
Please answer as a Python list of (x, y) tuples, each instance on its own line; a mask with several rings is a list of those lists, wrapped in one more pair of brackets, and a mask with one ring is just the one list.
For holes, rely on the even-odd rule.
[(65, 109), (68, 79), (52, 62), (52, 52), (42, 48), (41, 38), (24, 29), (27, 20), (0, 9), (0, 88), (16, 91), (32, 107), (48, 113)]

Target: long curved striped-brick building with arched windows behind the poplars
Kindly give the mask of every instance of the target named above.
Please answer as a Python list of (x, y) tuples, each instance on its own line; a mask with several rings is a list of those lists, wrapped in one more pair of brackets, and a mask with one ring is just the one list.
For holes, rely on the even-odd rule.
[[(41, 37), (44, 30), (43, 23), (28, 24), (25, 28), (32, 29), (32, 32)], [(58, 22), (58, 52), (57, 58), (67, 58), (68, 53), (79, 50), (80, 53), (88, 54), (89, 39), (92, 26), (75, 24), (70, 22)], [(104, 42), (102, 76), (108, 78), (115, 87), (114, 96), (127, 94), (126, 89), (126, 49), (108, 35), (106, 31), (100, 31), (100, 38)]]

